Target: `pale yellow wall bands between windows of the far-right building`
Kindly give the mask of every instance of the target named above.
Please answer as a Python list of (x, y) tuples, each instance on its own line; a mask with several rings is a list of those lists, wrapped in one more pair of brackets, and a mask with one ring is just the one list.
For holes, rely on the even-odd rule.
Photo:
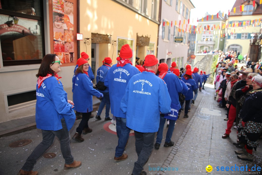
[[(261, 15), (243, 15), (243, 16), (230, 16), (226, 21), (226, 25), (230, 21), (245, 21), (245, 20), (256, 20), (261, 18)], [(260, 32), (260, 26), (247, 26), (247, 27), (228, 27), (227, 33), (231, 35), (233, 33), (258, 33)], [(242, 55), (248, 53), (250, 39), (226, 39), (225, 51), (228, 50), (228, 46), (237, 44), (242, 46)]]

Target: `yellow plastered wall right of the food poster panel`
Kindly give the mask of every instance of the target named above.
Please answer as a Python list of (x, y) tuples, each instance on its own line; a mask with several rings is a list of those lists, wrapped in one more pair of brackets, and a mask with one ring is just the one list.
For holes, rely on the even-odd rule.
[[(142, 15), (139, 15), (138, 13), (135, 13), (134, 11), (122, 6), (115, 1), (80, 1), (80, 33), (83, 34), (83, 38), (91, 38), (91, 33), (112, 35), (111, 44), (107, 44), (108, 52), (106, 54), (103, 53), (103, 57), (99, 55), (99, 66), (102, 65), (102, 60), (104, 57), (111, 57), (111, 59), (113, 60), (113, 64), (117, 62), (117, 46), (113, 47), (112, 42), (113, 40), (117, 40), (118, 37), (134, 40), (134, 65), (137, 33), (139, 36), (148, 35), (150, 36), (150, 42), (157, 43), (157, 31), (157, 23), (152, 22), (151, 20), (143, 17)], [(84, 40), (80, 41), (80, 52), (85, 51), (86, 47), (87, 54), (91, 55), (91, 44), (85, 46)], [(101, 54), (102, 49), (100, 47), (104, 46), (101, 46), (101, 44), (99, 44), (99, 53)], [(154, 53), (156, 56), (156, 44)], [(140, 58), (144, 59), (143, 57)]]

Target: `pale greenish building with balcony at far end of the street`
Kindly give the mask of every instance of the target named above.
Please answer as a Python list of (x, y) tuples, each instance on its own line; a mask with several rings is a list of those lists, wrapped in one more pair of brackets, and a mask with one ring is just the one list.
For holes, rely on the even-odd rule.
[(204, 51), (223, 50), (225, 43), (226, 15), (207, 14), (198, 20), (196, 27), (195, 54)]

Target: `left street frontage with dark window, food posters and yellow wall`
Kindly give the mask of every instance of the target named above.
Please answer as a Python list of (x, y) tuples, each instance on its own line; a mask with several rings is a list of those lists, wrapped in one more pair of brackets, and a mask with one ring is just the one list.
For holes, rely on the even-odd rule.
[(0, 122), (35, 115), (35, 75), (48, 53), (63, 64), (58, 75), (68, 99), (81, 52), (95, 76), (105, 57), (117, 62), (124, 44), (133, 50), (133, 65), (135, 56), (156, 55), (159, 0), (3, 0), (0, 6)]

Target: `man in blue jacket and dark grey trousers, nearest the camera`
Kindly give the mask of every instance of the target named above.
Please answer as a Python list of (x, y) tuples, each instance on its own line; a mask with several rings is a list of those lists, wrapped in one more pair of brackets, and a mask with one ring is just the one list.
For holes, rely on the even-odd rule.
[(171, 111), (171, 99), (165, 81), (155, 76), (158, 60), (154, 55), (145, 57), (145, 71), (134, 75), (128, 82), (121, 109), (127, 117), (127, 127), (135, 132), (135, 149), (138, 160), (132, 175), (142, 171), (154, 146), (155, 133), (159, 129), (160, 112)]

